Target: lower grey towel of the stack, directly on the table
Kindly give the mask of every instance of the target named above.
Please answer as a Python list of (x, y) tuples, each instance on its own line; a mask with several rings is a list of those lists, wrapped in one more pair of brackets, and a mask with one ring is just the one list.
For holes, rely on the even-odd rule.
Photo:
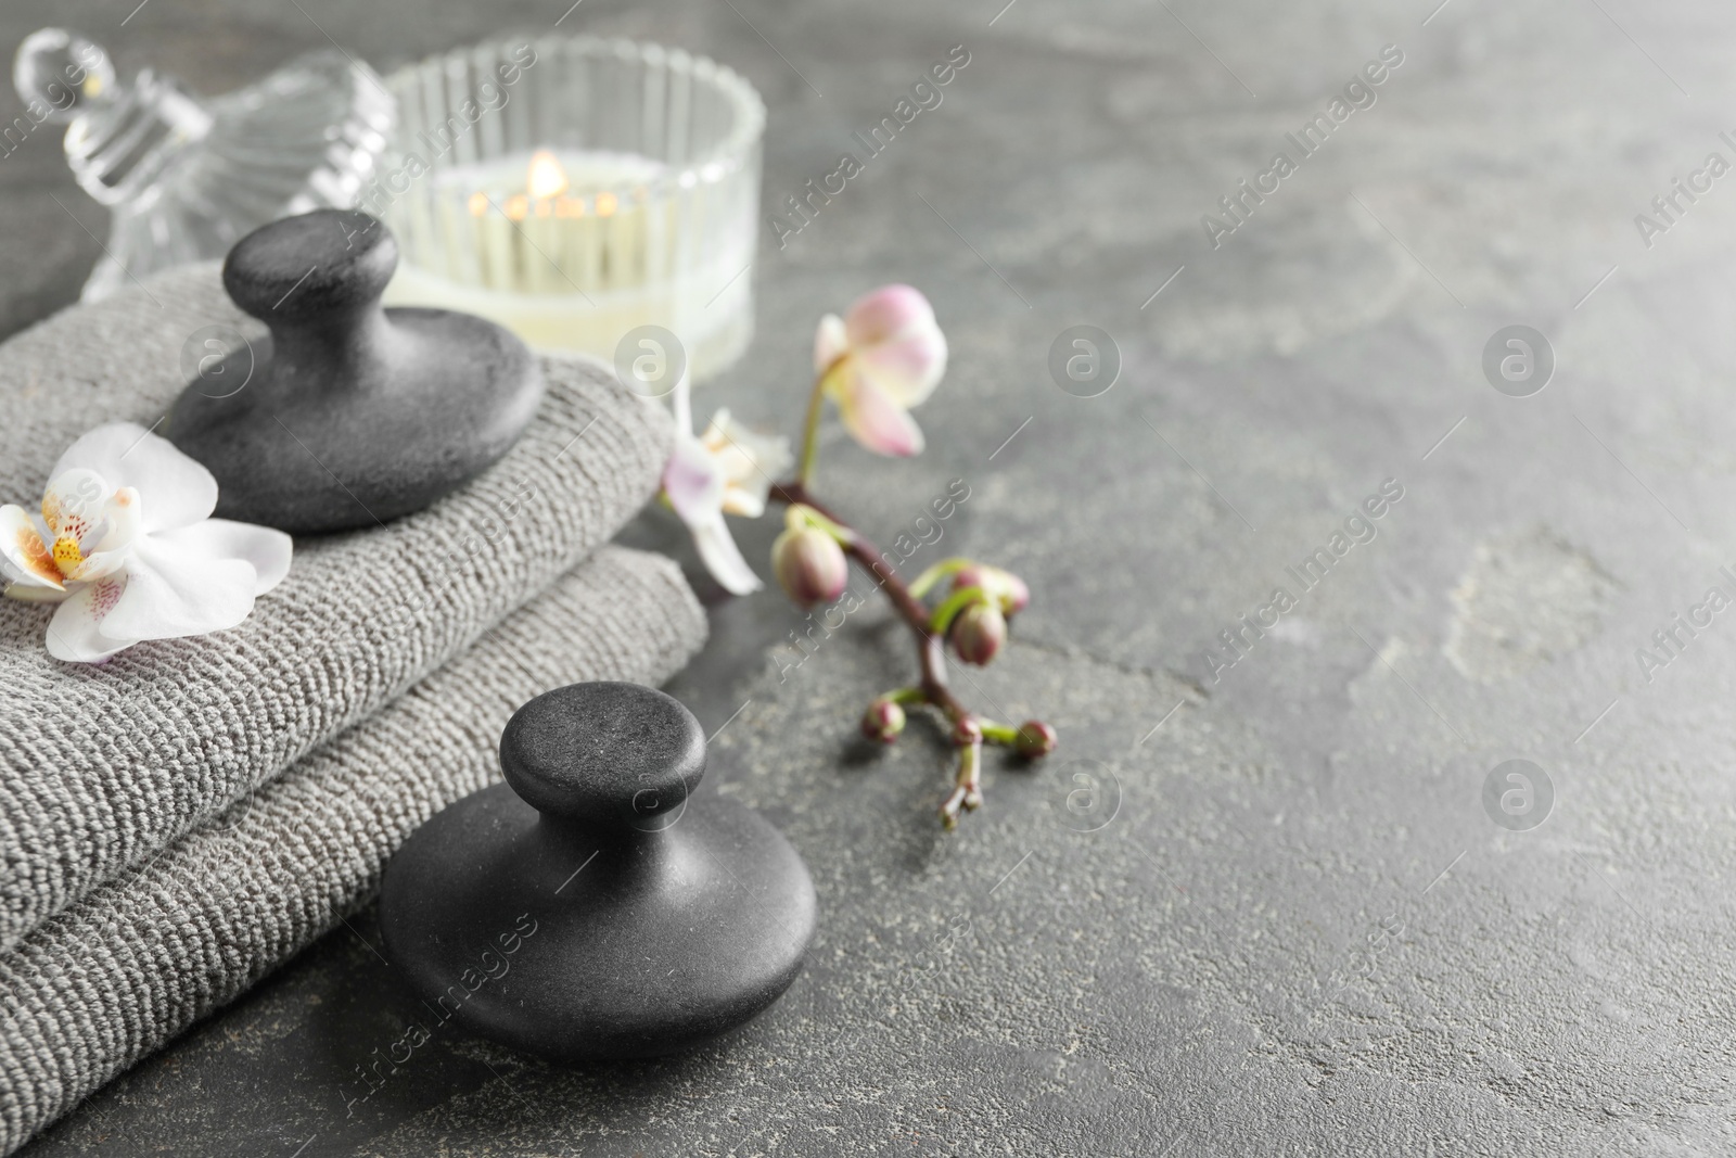
[(450, 665), (0, 958), (0, 1153), (373, 896), (498, 776), (500, 731), (580, 679), (660, 682), (705, 639), (679, 568), (606, 547)]

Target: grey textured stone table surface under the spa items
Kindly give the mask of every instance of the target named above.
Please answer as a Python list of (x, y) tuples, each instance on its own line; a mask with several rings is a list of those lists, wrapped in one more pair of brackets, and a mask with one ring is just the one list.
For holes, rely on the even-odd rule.
[[(785, 601), (713, 597), (670, 691), (717, 731), (708, 783), (819, 891), (771, 1014), (682, 1061), (575, 1069), (441, 1036), (361, 1101), (413, 1014), (361, 915), (35, 1158), (1736, 1148), (1736, 615), (1705, 602), (1736, 595), (1736, 189), (1694, 177), (1736, 160), (1736, 12), (1003, 3), (585, 0), (562, 30), (743, 69), (769, 210), (965, 45), (937, 108), (858, 151), (785, 248), (766, 231), (760, 332), (710, 398), (793, 432), (821, 309), (891, 280), (932, 297), (953, 366), (917, 415), (929, 453), (832, 431), (821, 486), (891, 540), (965, 479), (915, 563), (1029, 580), (1016, 646), (962, 691), (1049, 719), (1061, 752), (991, 762), (944, 835), (934, 731), (852, 740), (908, 672), (884, 602), (795, 667)], [(127, 7), (16, 0), (0, 28), (73, 24), (220, 90), (326, 36), (391, 66), (568, 0)], [(1332, 122), (1384, 45), (1403, 63)], [(1304, 153), (1286, 134), (1316, 113)], [(16, 328), (75, 293), (102, 217), (47, 135), (0, 160), (0, 198)], [(1075, 325), (1118, 351), (1095, 398), (1050, 378)], [(1484, 375), (1510, 325), (1554, 352), (1542, 392)], [(1384, 484), (1403, 498), (1345, 530)], [(773, 531), (743, 531), (750, 559)], [(691, 564), (667, 519), (630, 538)], [(1500, 780), (1486, 804), (1514, 759), (1550, 790)]]

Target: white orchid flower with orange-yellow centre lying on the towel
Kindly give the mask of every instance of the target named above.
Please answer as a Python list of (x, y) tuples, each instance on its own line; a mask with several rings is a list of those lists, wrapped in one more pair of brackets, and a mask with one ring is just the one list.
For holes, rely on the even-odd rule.
[(40, 517), (0, 507), (0, 573), (12, 599), (61, 604), (56, 660), (231, 628), (288, 575), (290, 536), (212, 519), (212, 472), (137, 424), (90, 431), (49, 479)]

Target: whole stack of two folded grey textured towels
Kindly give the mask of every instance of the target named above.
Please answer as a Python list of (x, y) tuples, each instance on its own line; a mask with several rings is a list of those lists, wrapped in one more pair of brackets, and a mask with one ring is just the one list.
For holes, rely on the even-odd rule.
[[(0, 345), (0, 502), (115, 418), (151, 425), (181, 347), (257, 323), (215, 267)], [(366, 903), (427, 816), (488, 783), (512, 710), (658, 682), (703, 642), (667, 561), (599, 545), (656, 490), (668, 420), (594, 363), (481, 479), (387, 528), (297, 542), (240, 627), (99, 667), (0, 601), (0, 1153)]]

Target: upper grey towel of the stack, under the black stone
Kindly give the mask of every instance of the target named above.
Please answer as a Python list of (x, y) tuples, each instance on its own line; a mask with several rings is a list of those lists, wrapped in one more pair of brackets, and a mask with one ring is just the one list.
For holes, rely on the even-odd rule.
[[(151, 425), (212, 325), (264, 333), (200, 266), (0, 345), (0, 502), (40, 502), (89, 427)], [(0, 951), (375, 714), (644, 505), (667, 415), (601, 363), (543, 368), (549, 398), (500, 464), (385, 528), (297, 542), (234, 630), (66, 665), (42, 644), (52, 609), (0, 599)]]

